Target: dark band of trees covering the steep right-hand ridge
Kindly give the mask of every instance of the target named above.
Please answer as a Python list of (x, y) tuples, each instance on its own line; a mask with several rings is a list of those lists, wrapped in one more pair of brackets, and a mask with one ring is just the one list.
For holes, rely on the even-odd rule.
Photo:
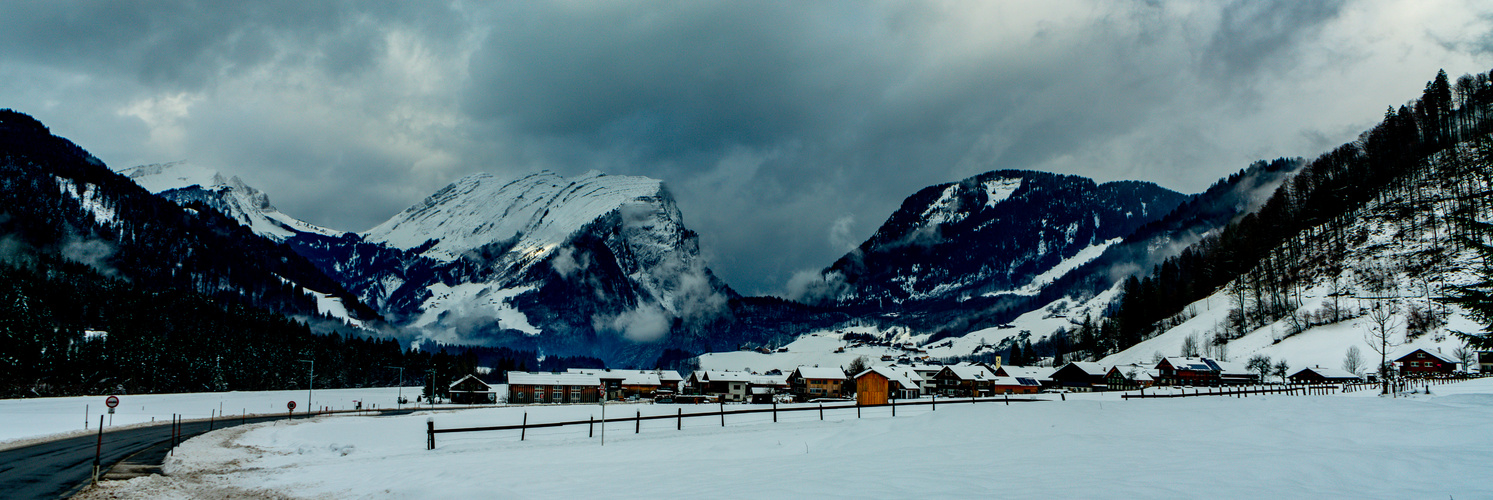
[[(1490, 133), (1490, 75), (1468, 75), (1453, 84), (1445, 72), (1438, 73), (1420, 99), (1390, 107), (1359, 140), (1309, 161), (1259, 210), (1208, 234), (1150, 275), (1126, 281), (1112, 312), (1067, 334), (1057, 349), (1090, 358), (1118, 352), (1185, 321), (1188, 303), (1223, 287), (1229, 287), (1235, 309), (1211, 339), (1215, 343), (1281, 319), (1294, 331), (1342, 319), (1342, 310), (1297, 310), (1302, 293), (1315, 285), (1326, 284), (1327, 294), (1338, 297), (1390, 293), (1403, 287), (1397, 281), (1420, 279), (1420, 296), (1439, 296), (1424, 278), (1427, 272), (1448, 261), (1457, 237), (1487, 236), (1456, 221), (1487, 213), (1493, 196)], [(1365, 212), (1369, 206), (1375, 213)], [(1372, 269), (1345, 269), (1351, 251), (1391, 243), (1369, 239), (1371, 231), (1362, 227), (1369, 216), (1429, 230), (1438, 243), (1365, 264)], [(1339, 281), (1345, 272), (1353, 279)], [(1406, 318), (1412, 327), (1433, 321), (1423, 310), (1408, 310)]]

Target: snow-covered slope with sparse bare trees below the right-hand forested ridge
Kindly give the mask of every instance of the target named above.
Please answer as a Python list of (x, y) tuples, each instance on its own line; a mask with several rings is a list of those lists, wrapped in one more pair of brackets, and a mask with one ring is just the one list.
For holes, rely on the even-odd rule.
[[(1477, 161), (1475, 148), (1468, 145), (1462, 145), (1459, 151), (1442, 152), (1439, 158), (1445, 160), (1445, 155), (1451, 154), (1463, 155), (1465, 164)], [(1353, 213), (1353, 222), (1345, 228), (1333, 230), (1324, 224), (1302, 231), (1297, 239), (1305, 243), (1296, 245), (1291, 249), (1296, 254), (1284, 260), (1291, 263), (1287, 272), (1302, 276), (1305, 282), (1285, 291), (1287, 300), (1291, 301), (1291, 313), (1297, 318), (1320, 318), (1338, 309), (1342, 321), (1293, 333), (1293, 322), (1300, 321), (1282, 316), (1235, 337), (1227, 333), (1227, 325), (1230, 310), (1239, 309), (1239, 297), (1230, 293), (1230, 287), (1224, 287), (1182, 312), (1191, 318), (1129, 349), (1105, 357), (1100, 363), (1150, 363), (1157, 354), (1179, 355), (1188, 337), (1206, 343), (1212, 336), (1223, 336), (1229, 339), (1223, 357), (1232, 361), (1244, 361), (1260, 354), (1277, 361), (1285, 360), (1293, 370), (1308, 366), (1341, 367), (1347, 349), (1357, 346), (1366, 361), (1363, 370), (1374, 370), (1380, 354), (1366, 337), (1375, 325), (1365, 313), (1375, 306), (1391, 307), (1396, 312), (1390, 325), (1391, 342), (1397, 346), (1391, 348), (1390, 360), (1414, 349), (1451, 355), (1462, 348), (1462, 342), (1450, 331), (1477, 331), (1481, 327), (1463, 316), (1457, 307), (1439, 304), (1433, 297), (1444, 297), (1451, 285), (1472, 282), (1475, 276), (1471, 269), (1478, 266), (1480, 257), (1447, 234), (1447, 215), (1454, 207), (1453, 197), (1444, 188), (1447, 179), (1433, 173), (1426, 175), (1403, 181), (1402, 188), (1408, 187), (1406, 193), (1381, 197), (1363, 206)], [(1471, 182), (1489, 187), (1478, 169), (1471, 169), (1465, 175), (1475, 179)], [(1412, 203), (1424, 203), (1421, 200), (1442, 203), (1430, 204), (1429, 210), (1424, 204), (1417, 209)], [(1493, 213), (1478, 215), (1480, 219), (1489, 216)], [(1333, 233), (1347, 234), (1350, 242), (1341, 255), (1335, 254), (1332, 245), (1323, 243)], [(1287, 252), (1287, 245), (1290, 243), (1277, 252)], [(1259, 299), (1247, 296), (1245, 301), (1253, 306)], [(1412, 309), (1444, 316), (1444, 324), (1412, 337), (1406, 331)]]

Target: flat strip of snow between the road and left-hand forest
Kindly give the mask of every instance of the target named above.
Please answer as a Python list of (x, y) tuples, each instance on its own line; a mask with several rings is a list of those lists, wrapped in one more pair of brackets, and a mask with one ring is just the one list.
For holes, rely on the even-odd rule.
[[(414, 401), (420, 390), (406, 387), (403, 394)], [(311, 394), (311, 404), (339, 410), (352, 409), (354, 401), (363, 401), (366, 409), (396, 407), (399, 394), (397, 387), (317, 390)], [(219, 410), (230, 418), (245, 413), (285, 413), (285, 403), (291, 400), (296, 401), (299, 412), (306, 410), (306, 391), (127, 394), (119, 396), (119, 407), (115, 407), (112, 424), (105, 416), (105, 431), (110, 427), (170, 421), (172, 415), (193, 419), (211, 418)], [(99, 431), (99, 415), (107, 415), (105, 396), (0, 400), (0, 449), (43, 437)]]

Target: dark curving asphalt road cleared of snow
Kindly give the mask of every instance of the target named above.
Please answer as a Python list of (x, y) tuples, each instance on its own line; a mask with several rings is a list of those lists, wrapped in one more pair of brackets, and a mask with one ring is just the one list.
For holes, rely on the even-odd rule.
[[(264, 422), (281, 416), (255, 416), (242, 422)], [(239, 425), (240, 419), (228, 418), (213, 422), (213, 428)], [(182, 439), (208, 431), (208, 422), (182, 422)], [(136, 427), (103, 433), (103, 449), (99, 460), (100, 472), (110, 466), (161, 445), (160, 454), (169, 448), (170, 422), (151, 427)], [(25, 448), (0, 451), (0, 497), (4, 499), (67, 499), (88, 485), (93, 473), (94, 446), (99, 434), (78, 436), (36, 443)]]

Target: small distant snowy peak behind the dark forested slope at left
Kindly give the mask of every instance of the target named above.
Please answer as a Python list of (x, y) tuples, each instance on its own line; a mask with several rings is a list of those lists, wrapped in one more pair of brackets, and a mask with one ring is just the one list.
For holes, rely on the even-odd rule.
[(164, 196), (178, 204), (203, 201), (239, 221), (255, 234), (284, 242), (296, 234), (336, 236), (339, 231), (281, 213), (270, 197), (243, 184), (237, 176), (221, 173), (185, 161), (137, 166), (119, 172), (145, 190)]

